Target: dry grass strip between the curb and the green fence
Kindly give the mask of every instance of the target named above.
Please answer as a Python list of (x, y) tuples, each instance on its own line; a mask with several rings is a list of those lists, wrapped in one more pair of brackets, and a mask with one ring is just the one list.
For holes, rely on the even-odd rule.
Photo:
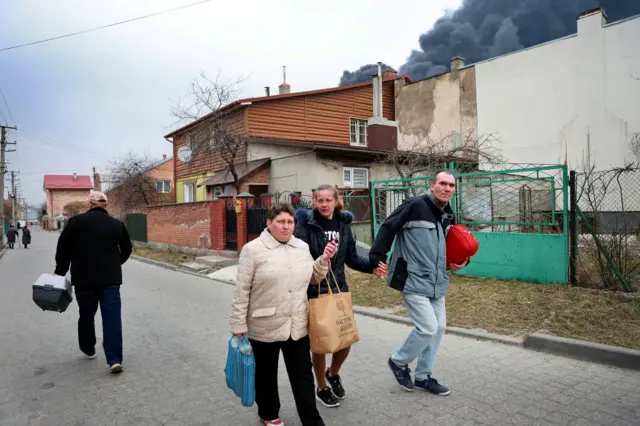
[[(373, 275), (348, 271), (353, 303), (395, 308), (402, 296)], [(538, 332), (640, 349), (640, 298), (603, 295), (581, 288), (474, 277), (451, 278), (447, 323), (523, 336)]]

